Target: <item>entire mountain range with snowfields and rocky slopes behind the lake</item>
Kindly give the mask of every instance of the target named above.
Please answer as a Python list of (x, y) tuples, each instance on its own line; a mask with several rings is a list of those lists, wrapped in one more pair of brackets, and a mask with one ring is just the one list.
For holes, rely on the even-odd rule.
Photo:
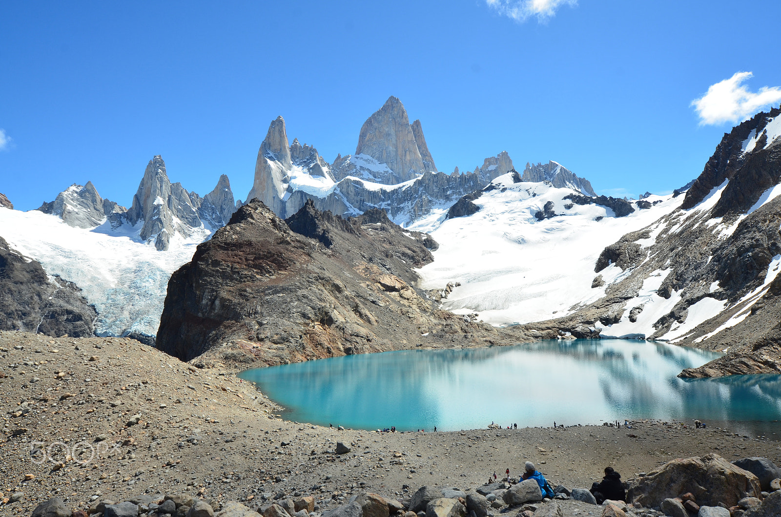
[[(331, 163), (291, 143), (280, 116), (260, 145), (246, 204), (234, 201), (225, 175), (202, 198), (171, 184), (159, 155), (130, 209), (101, 198), (91, 182), (31, 212), (0, 196), (0, 249), (19, 265), (13, 275), (6, 267), (0, 283), (16, 286), (16, 298), (39, 300), (26, 316), (9, 311), (3, 325), (33, 330), (42, 317), (52, 321), (34, 330), (50, 335), (159, 336), (187, 359), (264, 336), (287, 350), (274, 357), (290, 360), (297, 349), (309, 350), (301, 357), (389, 349), (382, 329), (390, 316), (380, 314), (391, 308), (407, 315), (409, 343), (426, 341), (415, 337), (426, 328), (424, 336), (470, 342), (636, 337), (735, 352), (744, 369), (774, 369), (779, 136), (779, 109), (758, 113), (725, 135), (685, 187), (628, 200), (597, 196), (557, 162), (518, 171), (507, 152), (470, 173), (440, 172), (422, 124), (410, 123), (395, 97), (363, 124), (355, 153)], [(413, 241), (416, 251), (401, 252)], [(246, 251), (230, 242), (245, 242)], [(18, 273), (20, 257), (46, 276)], [(20, 274), (37, 279), (27, 294)], [(246, 291), (251, 277), (258, 280)], [(271, 285), (292, 298), (261, 324), (253, 315), (279, 312), (268, 305)], [(370, 289), (358, 295), (361, 285)], [(41, 305), (52, 286), (69, 301)], [(201, 298), (208, 303), (188, 305)], [(285, 312), (303, 298), (307, 309)], [(91, 326), (58, 323), (83, 306), (96, 312), (94, 321), (80, 312)], [(494, 326), (466, 329), (448, 315)], [(307, 341), (320, 328), (312, 325), (324, 333)], [(277, 330), (261, 333), (264, 326)], [(720, 364), (690, 375), (736, 368)]]

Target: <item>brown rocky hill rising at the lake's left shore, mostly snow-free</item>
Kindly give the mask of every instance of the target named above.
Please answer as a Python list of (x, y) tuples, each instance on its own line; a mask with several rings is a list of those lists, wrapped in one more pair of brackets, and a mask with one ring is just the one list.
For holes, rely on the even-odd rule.
[(422, 328), (432, 344), (496, 337), (413, 287), (432, 247), (380, 210), (343, 219), (309, 201), (286, 222), (250, 201), (171, 277), (157, 348), (273, 365), (415, 346)]

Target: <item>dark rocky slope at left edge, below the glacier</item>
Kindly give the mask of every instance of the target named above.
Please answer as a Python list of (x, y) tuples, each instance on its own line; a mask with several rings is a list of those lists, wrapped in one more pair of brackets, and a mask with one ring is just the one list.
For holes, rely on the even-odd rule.
[(40, 262), (0, 237), (0, 330), (87, 337), (94, 335), (95, 316), (74, 283), (59, 276), (50, 280)]

